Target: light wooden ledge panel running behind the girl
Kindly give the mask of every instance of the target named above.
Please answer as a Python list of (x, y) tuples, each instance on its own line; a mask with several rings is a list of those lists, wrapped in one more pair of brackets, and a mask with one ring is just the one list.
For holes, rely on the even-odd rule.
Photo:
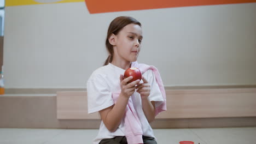
[[(256, 116), (256, 88), (167, 89), (167, 111), (156, 119)], [(85, 91), (57, 92), (57, 119), (100, 119), (88, 114)]]

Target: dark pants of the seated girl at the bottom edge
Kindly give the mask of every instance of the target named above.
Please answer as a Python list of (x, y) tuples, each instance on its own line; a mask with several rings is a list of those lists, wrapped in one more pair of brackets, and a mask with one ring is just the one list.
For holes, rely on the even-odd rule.
[[(153, 137), (142, 136), (144, 144), (157, 144)], [(103, 139), (99, 144), (127, 144), (125, 136), (116, 136), (112, 139)]]

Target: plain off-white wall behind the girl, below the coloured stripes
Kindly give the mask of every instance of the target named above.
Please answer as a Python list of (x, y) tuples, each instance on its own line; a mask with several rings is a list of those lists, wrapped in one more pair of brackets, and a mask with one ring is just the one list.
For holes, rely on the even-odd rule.
[(84, 3), (5, 8), (6, 88), (85, 88), (117, 16), (142, 23), (138, 61), (165, 86), (255, 85), (256, 3), (89, 14)]

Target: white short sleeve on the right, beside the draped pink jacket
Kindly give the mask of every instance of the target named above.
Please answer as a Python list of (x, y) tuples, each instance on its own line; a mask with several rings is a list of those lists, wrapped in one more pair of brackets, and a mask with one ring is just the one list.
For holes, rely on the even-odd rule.
[(149, 100), (150, 101), (156, 101), (155, 106), (157, 107), (158, 105), (160, 105), (161, 103), (158, 103), (158, 101), (164, 101), (164, 98), (162, 97), (162, 93), (160, 91), (160, 88), (158, 86), (158, 83), (156, 82), (155, 79), (155, 74), (153, 73), (152, 69), (147, 70), (144, 73), (147, 79), (147, 81), (150, 84), (150, 94), (149, 94)]

